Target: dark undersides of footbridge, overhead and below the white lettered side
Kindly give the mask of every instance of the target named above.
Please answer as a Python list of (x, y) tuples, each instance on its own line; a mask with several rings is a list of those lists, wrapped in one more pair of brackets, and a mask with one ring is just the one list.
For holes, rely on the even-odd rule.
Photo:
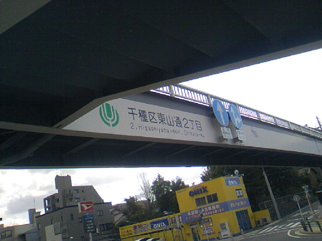
[(0, 9), (0, 166), (319, 166), (315, 155), (61, 128), (105, 101), (321, 48), (320, 1), (2, 0)]

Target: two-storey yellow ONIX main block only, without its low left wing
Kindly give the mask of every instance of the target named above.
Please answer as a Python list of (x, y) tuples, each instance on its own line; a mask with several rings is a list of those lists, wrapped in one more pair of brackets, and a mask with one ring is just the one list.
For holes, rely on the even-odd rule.
[(177, 191), (187, 241), (230, 237), (255, 227), (243, 178), (219, 177)]

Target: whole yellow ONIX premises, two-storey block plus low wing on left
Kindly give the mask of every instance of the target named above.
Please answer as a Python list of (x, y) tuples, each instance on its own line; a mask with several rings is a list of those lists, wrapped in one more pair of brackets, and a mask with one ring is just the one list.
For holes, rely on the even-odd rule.
[(253, 214), (241, 176), (219, 177), (176, 194), (180, 213), (121, 227), (122, 240), (211, 241), (240, 235), (264, 216), (270, 220), (267, 210)]

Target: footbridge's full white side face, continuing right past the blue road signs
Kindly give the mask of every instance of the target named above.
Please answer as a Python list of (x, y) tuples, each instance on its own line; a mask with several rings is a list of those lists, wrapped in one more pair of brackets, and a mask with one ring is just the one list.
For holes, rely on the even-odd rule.
[[(282, 150), (322, 155), (322, 142), (307, 136), (267, 128), (266, 124), (254, 127), (244, 118), (243, 131), (237, 130), (232, 121), (231, 139), (224, 139), (222, 125), (214, 116), (148, 104), (131, 99), (119, 98), (96, 107), (64, 129), (96, 134), (106, 138), (177, 142), (196, 145), (245, 146), (256, 149)], [(235, 115), (238, 118), (238, 116)], [(240, 132), (240, 133), (238, 133)], [(103, 137), (104, 138), (104, 137)], [(237, 140), (237, 141), (236, 141)]]

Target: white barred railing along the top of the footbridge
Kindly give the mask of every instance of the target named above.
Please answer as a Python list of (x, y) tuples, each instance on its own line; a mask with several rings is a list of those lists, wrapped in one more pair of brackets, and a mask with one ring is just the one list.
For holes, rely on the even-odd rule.
[(269, 123), (272, 125), (277, 125), (279, 127), (287, 128), (287, 129), (290, 129), (293, 131), (297, 131), (297, 132), (300, 132), (300, 133), (303, 133), (303, 134), (306, 134), (309, 136), (313, 136), (313, 137), (322, 139), (322, 133), (320, 133), (314, 129), (300, 126), (298, 124), (286, 121), (286, 119), (282, 119), (282, 118), (276, 117), (274, 115), (259, 111), (257, 109), (253, 109), (248, 106), (238, 104), (238, 103), (232, 102), (230, 100), (223, 99), (218, 96), (211, 95), (211, 94), (208, 94), (208, 93), (205, 93), (205, 92), (193, 89), (193, 88), (189, 88), (187, 86), (183, 86), (180, 84), (164, 86), (164, 87), (160, 87), (157, 89), (153, 89), (151, 91), (157, 92), (160, 94), (165, 94), (168, 96), (172, 96), (175, 98), (184, 99), (187, 101), (192, 101), (192, 102), (199, 103), (202, 105), (207, 105), (210, 107), (212, 107), (213, 100), (218, 99), (221, 101), (221, 103), (226, 108), (226, 110), (228, 110), (230, 104), (234, 104), (239, 109), (240, 115), (244, 115), (244, 116), (247, 116), (247, 117), (253, 118), (253, 119), (258, 119), (261, 122)]

